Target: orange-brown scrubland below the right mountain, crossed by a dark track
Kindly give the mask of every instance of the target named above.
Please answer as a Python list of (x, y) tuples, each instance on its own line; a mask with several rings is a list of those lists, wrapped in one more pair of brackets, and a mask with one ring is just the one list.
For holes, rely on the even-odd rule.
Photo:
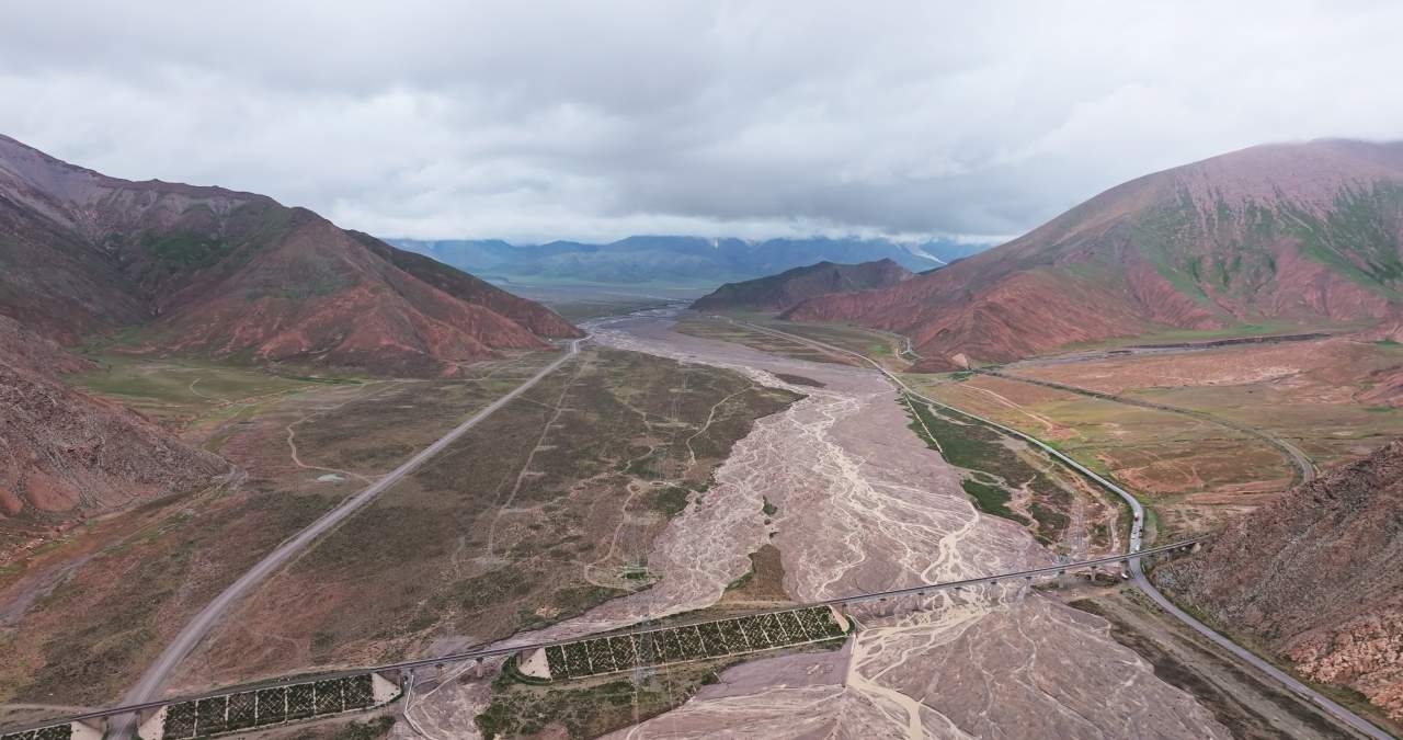
[(1331, 338), (1076, 362), (1033, 359), (1000, 371), (1211, 418), (1007, 376), (957, 372), (909, 381), (937, 400), (1013, 425), (1114, 476), (1150, 504), (1150, 525), (1160, 535), (1180, 536), (1261, 506), (1296, 476), (1270, 442), (1232, 425), (1285, 440), (1320, 466), (1403, 434), (1403, 409), (1371, 396), (1378, 378), (1400, 364), (1403, 348), (1389, 343)]

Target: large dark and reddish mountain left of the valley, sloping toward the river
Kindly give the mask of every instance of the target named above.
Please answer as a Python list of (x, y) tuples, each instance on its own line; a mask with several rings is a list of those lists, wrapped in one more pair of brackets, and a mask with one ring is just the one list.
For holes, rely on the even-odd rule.
[(452, 375), (579, 331), (544, 306), (223, 188), (132, 183), (0, 136), (0, 315), (63, 341)]

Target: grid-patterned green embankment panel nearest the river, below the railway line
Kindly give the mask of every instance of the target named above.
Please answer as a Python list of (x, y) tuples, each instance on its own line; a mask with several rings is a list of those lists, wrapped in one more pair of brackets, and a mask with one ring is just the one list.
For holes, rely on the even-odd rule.
[(546, 647), (553, 680), (735, 656), (843, 636), (828, 607), (755, 614), (699, 625), (591, 637)]

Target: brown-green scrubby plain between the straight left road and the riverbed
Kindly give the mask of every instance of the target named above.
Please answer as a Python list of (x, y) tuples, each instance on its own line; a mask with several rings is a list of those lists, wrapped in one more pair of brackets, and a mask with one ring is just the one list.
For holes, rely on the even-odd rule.
[(730, 371), (585, 351), (269, 580), (180, 682), (484, 643), (644, 588), (679, 490), (687, 506), (724, 506), (704, 493), (716, 465), (797, 397)]

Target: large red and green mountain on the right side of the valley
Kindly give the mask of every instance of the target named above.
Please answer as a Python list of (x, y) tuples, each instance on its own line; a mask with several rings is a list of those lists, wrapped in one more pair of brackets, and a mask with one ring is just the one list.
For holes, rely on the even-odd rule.
[(1244, 149), (1111, 188), (1027, 236), (786, 313), (906, 334), (923, 369), (1176, 330), (1403, 310), (1403, 143)]

